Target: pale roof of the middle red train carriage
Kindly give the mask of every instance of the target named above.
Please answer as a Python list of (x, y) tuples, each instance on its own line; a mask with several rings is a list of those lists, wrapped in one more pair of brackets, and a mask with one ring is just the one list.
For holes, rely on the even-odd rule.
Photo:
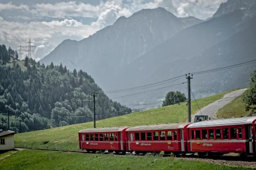
[(159, 125), (143, 125), (126, 129), (126, 131), (147, 131), (147, 130), (168, 130), (168, 129), (183, 129), (189, 123), (175, 124), (159, 124)]

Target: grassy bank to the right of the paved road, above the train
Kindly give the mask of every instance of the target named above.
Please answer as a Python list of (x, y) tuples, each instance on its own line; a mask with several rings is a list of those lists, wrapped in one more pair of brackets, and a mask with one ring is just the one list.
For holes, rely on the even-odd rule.
[(216, 116), (217, 118), (230, 118), (248, 116), (251, 110), (245, 111), (245, 103), (243, 102), (243, 96), (239, 96), (232, 102), (221, 108)]

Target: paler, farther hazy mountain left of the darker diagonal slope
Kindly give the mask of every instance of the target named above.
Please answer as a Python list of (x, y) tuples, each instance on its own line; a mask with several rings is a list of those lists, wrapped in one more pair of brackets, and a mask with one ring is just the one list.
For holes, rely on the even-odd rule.
[(63, 41), (40, 62), (62, 62), (70, 69), (87, 71), (103, 89), (116, 88), (116, 81), (125, 79), (118, 74), (125, 66), (199, 22), (195, 17), (178, 18), (163, 8), (142, 9), (81, 41)]

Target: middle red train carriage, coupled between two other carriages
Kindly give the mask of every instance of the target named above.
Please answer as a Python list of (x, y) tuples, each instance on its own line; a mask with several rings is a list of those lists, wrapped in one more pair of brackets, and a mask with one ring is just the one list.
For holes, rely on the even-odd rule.
[(188, 123), (137, 126), (126, 129), (126, 148), (136, 153), (185, 153)]

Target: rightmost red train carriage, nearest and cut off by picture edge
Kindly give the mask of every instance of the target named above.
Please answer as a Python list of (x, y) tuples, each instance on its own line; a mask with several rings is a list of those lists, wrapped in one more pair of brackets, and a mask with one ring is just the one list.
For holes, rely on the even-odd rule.
[(217, 119), (190, 124), (188, 151), (199, 155), (255, 154), (256, 117)]

